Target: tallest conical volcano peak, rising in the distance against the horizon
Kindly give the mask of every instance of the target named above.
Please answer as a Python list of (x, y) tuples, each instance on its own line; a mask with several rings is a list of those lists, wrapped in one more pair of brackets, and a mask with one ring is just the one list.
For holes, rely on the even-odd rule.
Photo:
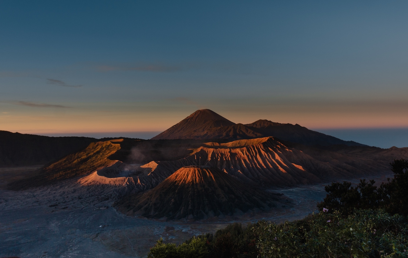
[(199, 139), (207, 131), (235, 125), (234, 122), (220, 116), (210, 109), (200, 109), (173, 125), (166, 131), (152, 138), (159, 139)]

